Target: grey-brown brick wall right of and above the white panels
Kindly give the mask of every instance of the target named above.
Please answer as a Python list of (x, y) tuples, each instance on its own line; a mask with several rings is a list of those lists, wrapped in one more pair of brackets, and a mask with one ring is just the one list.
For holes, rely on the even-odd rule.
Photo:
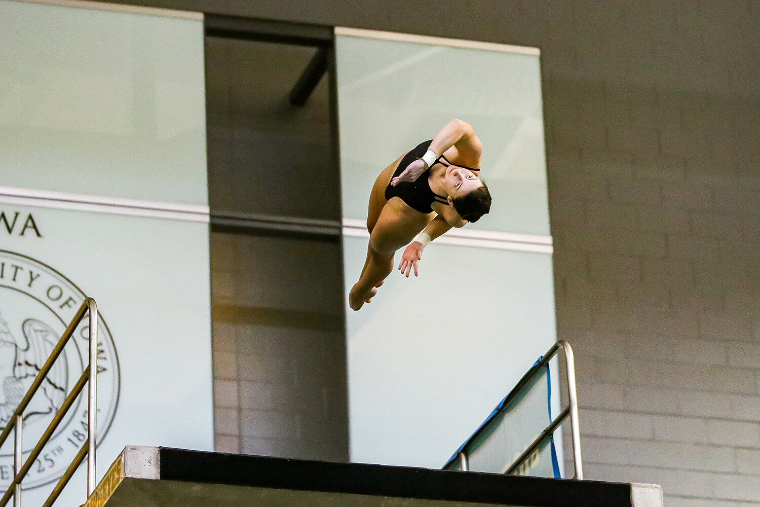
[(138, 3), (539, 46), (586, 476), (760, 505), (760, 3)]

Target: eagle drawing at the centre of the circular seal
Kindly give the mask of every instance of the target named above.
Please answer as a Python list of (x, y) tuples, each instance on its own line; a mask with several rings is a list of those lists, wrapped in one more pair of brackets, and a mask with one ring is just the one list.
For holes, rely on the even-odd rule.
[[(5, 426), (27, 394), (37, 374), (50, 356), (59, 335), (45, 322), (27, 318), (21, 325), (24, 338), (17, 339), (0, 316), (0, 426)], [(68, 391), (68, 358), (66, 350), (48, 372), (27, 410), (24, 422), (55, 414)]]

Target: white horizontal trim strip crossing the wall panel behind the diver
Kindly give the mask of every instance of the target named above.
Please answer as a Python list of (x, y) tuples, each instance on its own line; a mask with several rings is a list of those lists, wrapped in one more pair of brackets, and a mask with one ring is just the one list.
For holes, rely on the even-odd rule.
[[(369, 238), (366, 223), (354, 218), (343, 219), (344, 236)], [(442, 245), (475, 246), (485, 249), (516, 250), (518, 252), (553, 253), (552, 236), (500, 233), (490, 230), (451, 229), (435, 239)]]

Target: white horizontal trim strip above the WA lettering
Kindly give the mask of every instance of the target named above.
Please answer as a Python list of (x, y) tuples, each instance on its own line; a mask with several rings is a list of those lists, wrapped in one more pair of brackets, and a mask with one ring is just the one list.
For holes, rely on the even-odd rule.
[(138, 199), (103, 197), (100, 195), (70, 194), (68, 192), (20, 189), (6, 186), (0, 186), (0, 203), (60, 210), (91, 211), (94, 213), (127, 215), (130, 217), (188, 220), (191, 222), (207, 223), (209, 220), (208, 206), (141, 201)]

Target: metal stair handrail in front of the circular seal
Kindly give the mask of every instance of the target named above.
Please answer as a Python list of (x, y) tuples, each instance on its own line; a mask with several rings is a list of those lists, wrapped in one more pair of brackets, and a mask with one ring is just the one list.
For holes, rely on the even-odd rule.
[[(57, 360), (61, 355), (64, 347), (74, 335), (74, 331), (76, 331), (77, 326), (82, 322), (84, 315), (87, 313), (90, 315), (88, 322), (90, 328), (90, 361), (87, 364), (87, 368), (84, 369), (84, 372), (82, 372), (82, 375), (79, 377), (77, 383), (74, 384), (74, 388), (71, 389), (71, 392), (63, 401), (63, 404), (55, 413), (55, 416), (53, 416), (52, 421), (50, 421), (50, 424), (45, 430), (45, 433), (43, 433), (43, 436), (40, 437), (40, 440), (37, 441), (36, 445), (32, 449), (32, 452), (30, 453), (29, 458), (27, 458), (27, 461), (24, 461), (22, 464), (23, 446), (21, 445), (21, 436), (23, 434), (24, 426), (24, 410), (26, 410), (27, 405), (32, 400), (32, 397), (35, 395), (37, 389), (39, 389), (40, 385), (42, 385), (45, 377), (52, 368), (53, 363), (55, 363), (55, 360)], [(40, 369), (40, 372), (37, 373), (37, 376), (34, 379), (34, 382), (32, 382), (29, 391), (27, 391), (27, 394), (24, 395), (21, 403), (18, 404), (18, 407), (16, 407), (16, 410), (13, 413), (13, 417), (11, 417), (11, 420), (9, 420), (8, 424), (5, 425), (5, 429), (3, 429), (2, 433), (0, 433), (0, 447), (2, 447), (2, 445), (5, 443), (5, 440), (7, 440), (8, 436), (11, 434), (11, 431), (15, 429), (14, 477), (11, 485), (8, 486), (8, 490), (5, 491), (5, 495), (3, 495), (2, 499), (0, 499), (0, 507), (5, 507), (8, 501), (11, 499), (11, 496), (13, 496), (14, 507), (21, 507), (21, 481), (24, 480), (24, 477), (27, 476), (27, 473), (32, 467), (32, 464), (40, 455), (40, 452), (43, 451), (43, 448), (49, 441), (52, 434), (55, 432), (55, 429), (59, 426), (65, 417), (68, 409), (71, 408), (71, 405), (74, 404), (74, 401), (76, 401), (78, 396), (84, 390), (85, 384), (88, 384), (87, 442), (84, 442), (77, 455), (74, 456), (74, 461), (71, 462), (61, 479), (57, 484), (55, 484), (55, 487), (50, 493), (50, 496), (48, 496), (48, 499), (43, 504), (43, 507), (50, 507), (52, 503), (55, 502), (55, 499), (58, 499), (63, 488), (66, 486), (68, 481), (71, 480), (71, 476), (74, 475), (74, 472), (77, 471), (77, 468), (81, 462), (84, 461), (85, 455), (87, 455), (87, 496), (90, 496), (93, 493), (93, 490), (95, 490), (95, 444), (97, 436), (95, 427), (97, 415), (97, 319), (98, 312), (95, 299), (92, 299), (91, 297), (84, 299), (84, 303), (82, 303), (82, 306), (80, 306), (77, 310), (76, 315), (74, 315), (74, 319), (68, 325), (66, 331), (64, 331), (61, 339), (57, 344), (55, 344), (55, 347), (53, 347), (52, 353), (50, 353), (50, 356), (46, 360), (43, 367)]]

